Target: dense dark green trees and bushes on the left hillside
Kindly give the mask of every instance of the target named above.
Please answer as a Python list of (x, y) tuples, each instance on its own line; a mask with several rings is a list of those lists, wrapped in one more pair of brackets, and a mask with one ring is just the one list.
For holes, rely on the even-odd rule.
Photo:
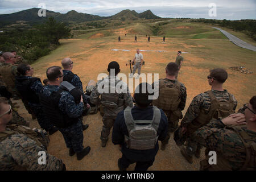
[(1, 32), (0, 50), (17, 51), (31, 64), (59, 46), (59, 40), (68, 38), (70, 31), (64, 23), (56, 22), (50, 17), (44, 23), (29, 29), (16, 28)]

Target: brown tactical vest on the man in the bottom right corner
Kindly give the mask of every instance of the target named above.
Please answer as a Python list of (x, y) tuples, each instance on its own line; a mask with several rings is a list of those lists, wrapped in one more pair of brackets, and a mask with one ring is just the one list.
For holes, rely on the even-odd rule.
[[(226, 129), (230, 129), (235, 131), (238, 136), (241, 138), (243, 145), (245, 146), (246, 157), (245, 163), (243, 164), (240, 171), (255, 171), (256, 170), (256, 143), (254, 142), (254, 138), (250, 137), (241, 127), (244, 126), (226, 126)], [(209, 165), (208, 158), (202, 160), (200, 162), (200, 169), (201, 170), (214, 170), (214, 171), (230, 171), (232, 170), (232, 166), (230, 166), (227, 159), (223, 158), (222, 156), (218, 155), (217, 164), (216, 165)]]

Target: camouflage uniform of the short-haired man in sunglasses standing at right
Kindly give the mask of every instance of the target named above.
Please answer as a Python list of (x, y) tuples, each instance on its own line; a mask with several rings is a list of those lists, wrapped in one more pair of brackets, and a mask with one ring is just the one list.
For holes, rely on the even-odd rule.
[[(237, 107), (237, 101), (232, 94), (230, 94), (230, 96), (232, 97), (232, 99), (230, 100), (227, 90), (210, 90), (210, 92), (218, 101), (215, 103), (229, 105), (229, 108), (226, 107), (226, 109), (228, 110), (228, 115), (234, 113), (234, 110), (236, 110)], [(195, 151), (200, 151), (201, 148), (200, 144), (197, 143), (197, 141), (195, 140), (193, 132), (202, 126), (207, 125), (210, 119), (220, 117), (218, 114), (220, 113), (220, 111), (213, 110), (213, 103), (214, 102), (212, 102), (208, 93), (204, 92), (199, 94), (198, 96), (193, 98), (191, 104), (188, 107), (187, 113), (181, 121), (181, 127), (187, 127), (188, 137), (186, 142), (186, 153), (189, 156), (195, 154)], [(220, 107), (220, 105), (218, 105), (217, 108), (218, 107)], [(204, 119), (200, 119), (202, 115), (205, 115)], [(227, 117), (228, 115), (222, 115), (222, 118)]]

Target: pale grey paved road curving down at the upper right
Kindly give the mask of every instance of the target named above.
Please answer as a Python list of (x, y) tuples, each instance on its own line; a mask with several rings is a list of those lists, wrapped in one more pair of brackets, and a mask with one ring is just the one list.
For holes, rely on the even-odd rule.
[(232, 41), (237, 46), (249, 49), (251, 51), (256, 51), (256, 46), (252, 46), (251, 44), (244, 42), (243, 40), (237, 38), (236, 36), (230, 34), (229, 32), (226, 32), (225, 30), (222, 30), (221, 28), (217, 28), (217, 27), (212, 27), (212, 28), (220, 30), (230, 41)]

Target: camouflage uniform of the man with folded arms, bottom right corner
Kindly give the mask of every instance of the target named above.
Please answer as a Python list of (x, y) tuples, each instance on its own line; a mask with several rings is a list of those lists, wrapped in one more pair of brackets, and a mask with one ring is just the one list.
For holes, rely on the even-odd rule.
[[(229, 127), (221, 119), (212, 119), (196, 130), (195, 135), (207, 148), (207, 158), (200, 162), (201, 170), (256, 170), (256, 133), (248, 130), (246, 125)], [(243, 141), (249, 146), (245, 147)], [(216, 165), (209, 165), (209, 151), (216, 151)]]

